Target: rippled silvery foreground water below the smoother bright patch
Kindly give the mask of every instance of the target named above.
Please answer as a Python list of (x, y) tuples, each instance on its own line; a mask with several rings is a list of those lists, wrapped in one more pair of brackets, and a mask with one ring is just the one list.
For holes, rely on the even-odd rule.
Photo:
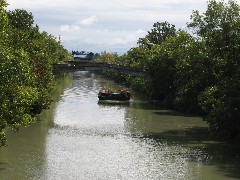
[(121, 126), (55, 125), (48, 141), (48, 173), (59, 178), (191, 179), (191, 164), (206, 158), (203, 151), (132, 135)]

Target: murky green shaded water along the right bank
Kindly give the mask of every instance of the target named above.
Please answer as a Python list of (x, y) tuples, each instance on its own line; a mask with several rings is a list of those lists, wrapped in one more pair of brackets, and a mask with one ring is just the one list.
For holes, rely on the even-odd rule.
[[(166, 145), (169, 148), (166, 154), (173, 159), (186, 160), (192, 166), (192, 175), (188, 179), (240, 177), (239, 146), (214, 139), (200, 117), (142, 102), (140, 106), (134, 104), (128, 109), (125, 123), (133, 134)], [(177, 151), (172, 152), (175, 148)]]

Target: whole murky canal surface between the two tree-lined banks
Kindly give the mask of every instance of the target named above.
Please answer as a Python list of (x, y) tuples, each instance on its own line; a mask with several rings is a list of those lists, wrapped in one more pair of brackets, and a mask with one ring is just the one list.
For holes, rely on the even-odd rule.
[(1, 180), (225, 180), (239, 150), (214, 141), (200, 118), (148, 104), (99, 104), (119, 84), (87, 71), (63, 76), (50, 109), (0, 149)]

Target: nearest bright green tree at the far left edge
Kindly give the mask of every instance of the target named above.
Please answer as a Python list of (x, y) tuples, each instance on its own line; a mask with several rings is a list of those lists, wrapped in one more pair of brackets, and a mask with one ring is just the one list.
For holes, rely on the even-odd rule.
[[(3, 3), (3, 1), (1, 1)], [(1, 44), (0, 44), (0, 146), (5, 145), (3, 129), (10, 127), (17, 130), (35, 122), (31, 113), (32, 104), (38, 97), (34, 87), (35, 76), (29, 64), (29, 55), (23, 49), (13, 48), (11, 28), (6, 4), (1, 4)]]

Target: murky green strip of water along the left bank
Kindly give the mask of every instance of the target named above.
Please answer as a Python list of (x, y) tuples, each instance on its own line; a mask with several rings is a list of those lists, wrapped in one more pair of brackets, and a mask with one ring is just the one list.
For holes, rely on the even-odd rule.
[(53, 124), (56, 100), (61, 99), (64, 89), (72, 82), (69, 75), (62, 76), (56, 88), (50, 109), (41, 114), (36, 124), (21, 128), (19, 133), (7, 131), (8, 147), (0, 149), (0, 179), (40, 179), (46, 163), (46, 136)]

